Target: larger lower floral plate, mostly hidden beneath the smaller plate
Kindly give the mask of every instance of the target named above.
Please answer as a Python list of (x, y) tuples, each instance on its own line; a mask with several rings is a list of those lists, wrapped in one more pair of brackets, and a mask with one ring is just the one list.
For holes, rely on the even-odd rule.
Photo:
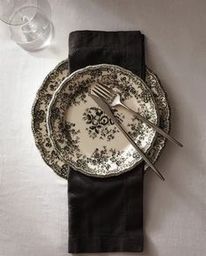
[[(52, 168), (52, 171), (55, 174), (58, 174), (64, 179), (67, 179), (70, 167), (52, 146), (52, 142), (46, 128), (46, 113), (48, 105), (51, 102), (52, 95), (67, 75), (69, 75), (68, 60), (62, 60), (45, 77), (44, 82), (42, 82), (38, 89), (37, 96), (31, 110), (31, 127), (36, 146), (38, 147), (45, 163)], [(149, 68), (146, 68), (146, 84), (148, 88), (151, 89), (157, 104), (160, 116), (159, 125), (163, 131), (168, 132), (170, 128), (168, 97), (157, 75), (155, 75)], [(160, 157), (165, 143), (166, 140), (160, 134), (157, 134), (156, 139), (154, 140), (154, 145), (148, 151), (148, 157), (152, 162)], [(145, 165), (145, 170), (147, 169), (148, 166)]]

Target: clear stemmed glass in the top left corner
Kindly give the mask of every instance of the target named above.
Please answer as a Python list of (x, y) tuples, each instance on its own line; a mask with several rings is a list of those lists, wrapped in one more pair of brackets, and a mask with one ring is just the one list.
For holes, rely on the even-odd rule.
[(0, 0), (0, 19), (9, 26), (10, 38), (27, 51), (50, 44), (50, 16), (46, 0)]

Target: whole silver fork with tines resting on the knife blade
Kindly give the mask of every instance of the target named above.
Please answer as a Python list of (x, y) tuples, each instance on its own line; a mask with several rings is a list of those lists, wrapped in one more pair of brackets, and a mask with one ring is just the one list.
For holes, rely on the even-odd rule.
[(113, 89), (108, 88), (105, 84), (103, 84), (99, 81), (99, 84), (96, 84), (93, 87), (93, 91), (98, 92), (100, 94), (100, 96), (103, 97), (103, 99), (105, 99), (106, 103), (108, 103), (111, 107), (115, 107), (117, 105), (123, 106), (125, 109), (132, 112), (134, 114), (134, 116), (138, 117), (142, 122), (144, 122), (144, 123), (148, 124), (149, 126), (151, 126), (152, 128), (154, 128), (154, 130), (156, 132), (159, 132), (162, 136), (164, 136), (165, 138), (167, 138), (171, 142), (173, 142), (173, 143), (177, 144), (178, 146), (182, 147), (182, 143), (180, 143), (176, 139), (169, 136), (168, 133), (162, 131), (160, 127), (151, 123), (145, 117), (142, 117), (138, 112), (135, 112), (134, 110), (128, 108), (125, 103), (122, 103), (122, 100), (120, 98), (120, 94), (115, 92)]

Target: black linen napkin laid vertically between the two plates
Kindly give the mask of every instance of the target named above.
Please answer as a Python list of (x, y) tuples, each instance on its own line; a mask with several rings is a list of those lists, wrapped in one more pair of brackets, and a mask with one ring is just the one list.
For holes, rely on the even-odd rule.
[[(69, 70), (114, 64), (145, 78), (141, 32), (77, 31), (69, 35)], [(132, 171), (96, 178), (68, 174), (68, 252), (143, 251), (143, 162)]]

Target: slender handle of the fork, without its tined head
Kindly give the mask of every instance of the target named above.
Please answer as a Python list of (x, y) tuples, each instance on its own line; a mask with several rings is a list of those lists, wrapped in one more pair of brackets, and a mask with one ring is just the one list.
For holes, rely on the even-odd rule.
[(152, 128), (154, 128), (154, 130), (156, 132), (160, 133), (163, 137), (167, 138), (168, 140), (177, 144), (178, 146), (181, 146), (181, 147), (183, 146), (182, 143), (180, 143), (176, 139), (169, 136), (167, 132), (162, 131), (160, 127), (158, 127), (155, 124), (153, 124), (152, 122), (148, 121), (148, 119), (146, 119), (145, 117), (142, 117), (141, 114), (139, 114), (138, 112), (135, 112), (134, 110), (128, 108), (124, 103), (120, 103), (120, 105), (123, 106), (125, 109), (129, 110), (130, 112), (132, 112), (134, 114), (134, 116), (138, 117), (138, 119), (140, 119), (142, 122), (144, 122), (144, 123), (148, 124), (149, 126), (151, 126)]

